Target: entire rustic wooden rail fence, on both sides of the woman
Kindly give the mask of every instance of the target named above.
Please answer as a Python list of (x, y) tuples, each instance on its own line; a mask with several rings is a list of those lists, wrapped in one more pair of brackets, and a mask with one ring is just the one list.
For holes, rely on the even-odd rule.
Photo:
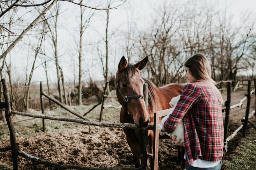
[[(224, 143), (225, 143), (225, 148), (227, 149), (228, 141), (230, 141), (237, 134), (237, 132), (241, 128), (243, 128), (243, 137), (245, 137), (247, 123), (248, 122), (251, 123), (250, 121), (248, 121), (248, 118), (250, 118), (253, 114), (255, 115), (255, 110), (253, 110), (249, 114), (249, 108), (250, 108), (251, 95), (253, 94), (253, 92), (255, 92), (256, 87), (254, 88), (254, 90), (251, 90), (251, 80), (248, 80), (248, 91), (247, 91), (246, 97), (241, 99), (238, 104), (231, 106), (230, 105), (230, 103), (231, 103), (231, 82), (230, 81), (223, 81), (223, 82), (227, 82), (227, 100), (225, 101), (225, 105), (224, 105), (225, 108), (223, 108), (223, 112), (225, 112)], [(218, 82), (218, 83), (223, 83), (223, 82)], [(54, 162), (51, 162), (51, 161), (47, 161), (47, 160), (43, 160), (43, 159), (34, 157), (33, 155), (29, 155), (28, 153), (24, 152), (23, 150), (20, 150), (19, 148), (17, 148), (17, 145), (16, 145), (15, 130), (14, 130), (13, 122), (12, 122), (12, 119), (11, 119), (12, 114), (29, 116), (29, 117), (33, 117), (33, 118), (41, 118), (41, 119), (43, 119), (43, 128), (45, 127), (44, 119), (67, 121), (67, 122), (77, 122), (77, 123), (84, 124), (84, 125), (95, 125), (95, 126), (111, 127), (111, 128), (137, 129), (137, 127), (134, 124), (128, 124), (128, 123), (106, 123), (106, 122), (90, 121), (90, 120), (86, 119), (85, 117), (79, 115), (78, 113), (75, 113), (72, 110), (69, 110), (67, 107), (62, 105), (59, 101), (55, 100), (54, 98), (46, 95), (42, 91), (42, 84), (40, 85), (40, 87), (41, 87), (40, 88), (41, 89), (40, 90), (40, 95), (41, 95), (40, 98), (41, 98), (42, 115), (33, 115), (33, 114), (29, 114), (29, 113), (11, 111), (10, 110), (10, 98), (9, 98), (8, 86), (7, 86), (7, 83), (5, 82), (5, 79), (2, 79), (2, 83), (3, 83), (3, 89), (4, 89), (3, 93), (4, 93), (4, 97), (5, 97), (5, 117), (6, 117), (6, 121), (7, 121), (6, 123), (8, 125), (9, 130), (10, 130), (11, 146), (7, 146), (5, 148), (0, 148), (0, 151), (12, 150), (13, 169), (14, 170), (18, 170), (18, 159), (17, 159), (18, 155), (20, 155), (20, 156), (22, 156), (22, 157), (24, 157), (28, 160), (32, 160), (33, 162), (36, 162), (38, 164), (44, 164), (44, 165), (59, 168), (59, 169), (81, 169), (81, 170), (110, 170), (110, 169), (112, 169), (112, 170), (148, 170), (148, 169), (152, 169), (152, 170), (157, 170), (157, 167), (158, 167), (157, 159), (158, 159), (159, 135), (157, 135), (158, 131), (156, 130), (156, 122), (157, 122), (156, 119), (154, 120), (154, 122), (155, 122), (154, 125), (149, 125), (147, 128), (140, 128), (139, 129), (139, 133), (140, 133), (139, 134), (139, 136), (140, 136), (139, 143), (140, 143), (140, 150), (141, 150), (141, 168), (125, 168), (125, 167), (121, 167), (121, 168), (94, 168), (94, 167), (84, 167), (84, 166), (78, 166), (78, 165), (61, 165), (61, 164), (58, 164), (58, 163), (54, 163)], [(236, 86), (238, 87), (238, 85), (236, 85)], [(234, 86), (234, 89), (236, 88), (236, 86)], [(256, 79), (254, 79), (254, 86), (256, 86)], [(144, 96), (145, 96), (144, 98), (145, 98), (145, 102), (146, 102), (147, 101), (147, 97), (146, 97), (147, 86), (146, 85), (145, 85), (145, 88), (143, 90), (143, 93), (144, 93)], [(65, 118), (65, 117), (52, 117), (52, 116), (44, 115), (44, 106), (42, 104), (43, 103), (42, 102), (42, 96), (47, 97), (48, 99), (50, 99), (53, 102), (55, 102), (56, 104), (60, 105), (61, 107), (68, 110), (72, 114), (77, 115), (78, 117), (82, 118), (83, 120), (74, 119), (74, 118)], [(246, 99), (247, 99), (246, 115), (242, 119), (243, 124), (237, 130), (235, 130), (235, 132), (232, 135), (227, 137), (230, 110), (235, 108), (235, 107), (241, 106)], [(104, 97), (103, 97), (102, 103), (104, 103)], [(160, 112), (162, 114), (162, 111), (160, 111)], [(161, 116), (163, 116), (163, 115), (161, 115)], [(159, 116), (158, 116), (158, 118), (159, 118)], [(31, 119), (31, 118), (29, 118), (29, 119)], [(148, 146), (147, 131), (148, 130), (154, 130), (154, 153), (153, 154), (147, 153), (147, 146)], [(152, 157), (152, 156), (155, 160), (155, 162), (154, 161), (152, 162), (153, 165), (151, 165), (151, 161), (149, 161), (150, 157)], [(224, 158), (224, 156), (223, 156), (223, 158)]]

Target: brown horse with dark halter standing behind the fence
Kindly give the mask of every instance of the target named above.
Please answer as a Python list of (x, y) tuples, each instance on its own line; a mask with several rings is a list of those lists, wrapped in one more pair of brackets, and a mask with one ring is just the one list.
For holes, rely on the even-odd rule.
[[(180, 95), (184, 85), (172, 83), (156, 87), (151, 81), (143, 79), (140, 75), (148, 62), (148, 57), (135, 65), (128, 63), (123, 56), (116, 73), (117, 97), (122, 105), (120, 122), (135, 123), (138, 128), (154, 124), (154, 112), (171, 108), (169, 102), (172, 97)], [(148, 83), (148, 111), (143, 100), (143, 84)], [(126, 140), (130, 146), (135, 160), (136, 168), (141, 167), (138, 130), (124, 129)], [(148, 130), (148, 143), (153, 153), (152, 130)]]

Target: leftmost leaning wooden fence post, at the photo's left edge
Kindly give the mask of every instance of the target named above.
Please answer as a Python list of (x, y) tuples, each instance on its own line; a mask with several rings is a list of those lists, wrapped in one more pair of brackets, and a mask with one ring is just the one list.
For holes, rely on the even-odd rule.
[(12, 118), (11, 118), (9, 90), (8, 90), (8, 85), (5, 79), (2, 78), (1, 81), (3, 84), (3, 95), (5, 97), (5, 119), (10, 131), (10, 144), (12, 148), (13, 170), (18, 170), (17, 145), (16, 145), (16, 138), (15, 138), (15, 129), (14, 129)]

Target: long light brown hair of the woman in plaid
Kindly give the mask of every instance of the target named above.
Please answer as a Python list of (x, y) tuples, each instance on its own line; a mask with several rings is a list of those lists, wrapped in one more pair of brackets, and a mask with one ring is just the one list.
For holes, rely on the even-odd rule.
[(197, 53), (192, 57), (189, 57), (189, 59), (187, 59), (187, 61), (185, 62), (185, 67), (189, 69), (189, 73), (193, 76), (194, 82), (202, 81), (208, 83), (210, 87), (212, 87), (216, 92), (218, 92), (218, 94), (221, 97), (221, 100), (223, 100), (220, 91), (215, 86), (216, 82), (212, 80), (211, 65), (203, 54)]

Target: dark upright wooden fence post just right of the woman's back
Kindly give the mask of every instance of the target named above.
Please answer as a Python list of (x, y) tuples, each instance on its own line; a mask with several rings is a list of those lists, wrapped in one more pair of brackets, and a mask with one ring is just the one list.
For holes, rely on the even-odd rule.
[[(224, 144), (226, 143), (226, 139), (228, 136), (228, 120), (229, 120), (229, 112), (230, 112), (230, 103), (231, 103), (231, 82), (228, 82), (227, 85), (227, 100), (225, 102), (225, 107), (226, 107), (226, 113), (225, 113), (225, 123), (224, 123)], [(224, 150), (224, 155), (223, 155), (223, 160), (225, 157), (225, 148), (223, 148)]]

